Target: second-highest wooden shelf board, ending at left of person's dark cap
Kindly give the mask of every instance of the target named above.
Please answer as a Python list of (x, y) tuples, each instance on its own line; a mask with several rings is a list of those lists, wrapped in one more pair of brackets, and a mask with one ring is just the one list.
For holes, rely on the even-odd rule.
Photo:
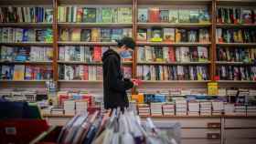
[(117, 46), (115, 42), (58, 42), (59, 45)]

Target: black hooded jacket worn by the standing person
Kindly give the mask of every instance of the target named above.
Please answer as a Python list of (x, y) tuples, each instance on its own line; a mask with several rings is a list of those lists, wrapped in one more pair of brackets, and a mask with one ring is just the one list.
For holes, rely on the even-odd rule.
[(133, 87), (130, 79), (123, 78), (121, 57), (112, 49), (102, 57), (104, 108), (124, 108), (129, 106), (126, 90)]

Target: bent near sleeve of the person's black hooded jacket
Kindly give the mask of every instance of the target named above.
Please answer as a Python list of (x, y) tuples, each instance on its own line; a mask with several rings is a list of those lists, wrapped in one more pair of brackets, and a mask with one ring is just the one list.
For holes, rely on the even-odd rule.
[(108, 77), (109, 77), (109, 85), (113, 90), (116, 91), (125, 91), (133, 87), (133, 82), (130, 79), (120, 79), (118, 75), (118, 71), (120, 70), (117, 65), (118, 60), (115, 57), (109, 58), (108, 65)]

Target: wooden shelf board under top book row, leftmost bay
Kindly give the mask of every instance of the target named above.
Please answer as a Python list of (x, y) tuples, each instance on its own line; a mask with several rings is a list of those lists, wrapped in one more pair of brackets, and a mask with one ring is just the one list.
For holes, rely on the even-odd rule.
[(0, 23), (0, 26), (50, 27), (51, 23)]

